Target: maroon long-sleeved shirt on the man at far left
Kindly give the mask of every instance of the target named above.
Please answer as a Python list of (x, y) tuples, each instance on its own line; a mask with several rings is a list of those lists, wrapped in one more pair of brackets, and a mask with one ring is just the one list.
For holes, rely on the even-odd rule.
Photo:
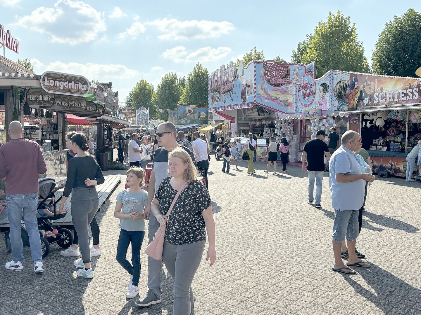
[(38, 192), (38, 174), (47, 171), (37, 142), (11, 139), (0, 146), (0, 178), (6, 178), (6, 195)]

